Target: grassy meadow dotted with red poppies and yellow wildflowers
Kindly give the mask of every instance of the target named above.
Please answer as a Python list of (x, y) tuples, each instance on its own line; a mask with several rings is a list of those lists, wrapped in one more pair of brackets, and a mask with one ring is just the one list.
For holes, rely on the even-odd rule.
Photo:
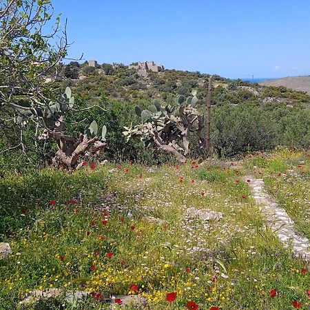
[[(279, 149), (225, 165), (88, 163), (3, 177), (0, 234), (13, 254), (0, 260), (0, 309), (111, 309), (106, 296), (136, 294), (138, 309), (308, 309), (307, 262), (266, 227), (242, 178), (264, 178), (309, 238), (309, 163), (310, 152)], [(223, 218), (191, 218), (191, 207)], [(90, 296), (19, 303), (49, 288)]]

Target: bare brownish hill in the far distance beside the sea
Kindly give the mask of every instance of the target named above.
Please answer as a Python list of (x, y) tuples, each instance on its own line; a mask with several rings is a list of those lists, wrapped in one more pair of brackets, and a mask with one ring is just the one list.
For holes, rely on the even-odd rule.
[(310, 94), (310, 76), (289, 76), (282, 79), (273, 79), (259, 82), (265, 86), (284, 86), (291, 90)]

